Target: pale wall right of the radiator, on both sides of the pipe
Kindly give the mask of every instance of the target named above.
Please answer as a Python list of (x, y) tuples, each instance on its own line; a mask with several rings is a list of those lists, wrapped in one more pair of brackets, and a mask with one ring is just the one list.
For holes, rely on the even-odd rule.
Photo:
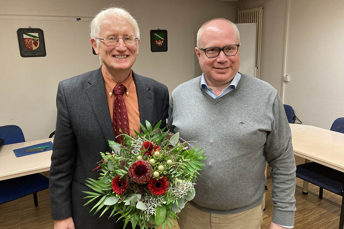
[[(261, 79), (283, 95), (303, 124), (330, 129), (344, 116), (344, 1), (239, 0), (239, 10), (260, 6)], [(283, 75), (291, 81), (284, 83)]]

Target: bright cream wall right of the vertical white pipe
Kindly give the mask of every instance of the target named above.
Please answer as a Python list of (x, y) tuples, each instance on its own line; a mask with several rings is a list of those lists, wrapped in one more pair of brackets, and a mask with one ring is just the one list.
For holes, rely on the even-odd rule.
[(284, 103), (304, 124), (344, 117), (343, 15), (343, 0), (290, 0)]

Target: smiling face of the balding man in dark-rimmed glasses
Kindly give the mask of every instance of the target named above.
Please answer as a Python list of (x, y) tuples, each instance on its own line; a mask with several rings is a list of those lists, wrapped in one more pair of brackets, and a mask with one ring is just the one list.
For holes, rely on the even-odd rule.
[[(200, 48), (219, 47), (239, 44), (234, 28), (226, 21), (209, 22), (200, 39)], [(223, 51), (215, 58), (208, 58), (203, 50), (195, 48), (200, 67), (209, 86), (225, 88), (239, 70), (240, 47), (234, 56), (226, 56)]]

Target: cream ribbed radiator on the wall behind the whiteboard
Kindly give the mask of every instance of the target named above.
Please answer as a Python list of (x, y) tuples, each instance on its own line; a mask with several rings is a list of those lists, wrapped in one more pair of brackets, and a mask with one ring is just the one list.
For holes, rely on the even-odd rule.
[(256, 33), (256, 66), (257, 78), (260, 78), (260, 53), (261, 53), (261, 26), (263, 19), (263, 7), (257, 7), (238, 11), (238, 23), (257, 23)]

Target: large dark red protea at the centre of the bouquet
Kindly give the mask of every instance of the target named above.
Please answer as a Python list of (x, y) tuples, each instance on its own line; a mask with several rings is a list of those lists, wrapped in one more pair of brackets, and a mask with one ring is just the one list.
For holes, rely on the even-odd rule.
[(137, 160), (129, 166), (129, 176), (132, 181), (146, 184), (152, 178), (152, 167), (148, 161)]

